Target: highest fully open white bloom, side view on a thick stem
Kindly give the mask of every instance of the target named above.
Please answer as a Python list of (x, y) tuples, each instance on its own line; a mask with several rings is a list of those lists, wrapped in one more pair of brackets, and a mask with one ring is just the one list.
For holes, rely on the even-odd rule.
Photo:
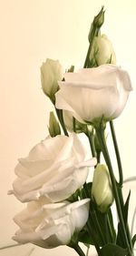
[(55, 94), (56, 108), (73, 112), (80, 122), (117, 118), (131, 91), (129, 74), (121, 67), (102, 65), (65, 73)]

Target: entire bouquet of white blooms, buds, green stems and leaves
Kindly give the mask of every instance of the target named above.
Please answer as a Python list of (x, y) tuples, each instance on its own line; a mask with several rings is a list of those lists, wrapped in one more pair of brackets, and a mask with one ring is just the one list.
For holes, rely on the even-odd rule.
[[(17, 178), (9, 193), (27, 203), (14, 218), (19, 230), (13, 239), (21, 244), (67, 245), (80, 256), (87, 255), (91, 245), (99, 256), (134, 255), (136, 235), (131, 236), (128, 223), (131, 192), (124, 200), (113, 125), (127, 103), (131, 79), (116, 66), (112, 43), (101, 35), (103, 22), (102, 7), (92, 21), (83, 68), (74, 72), (72, 66), (63, 74), (59, 61), (52, 59), (41, 67), (42, 88), (54, 112), (50, 113), (49, 135), (15, 167)], [(107, 146), (107, 128), (112, 133), (117, 177)], [(85, 138), (89, 152), (83, 144)]]

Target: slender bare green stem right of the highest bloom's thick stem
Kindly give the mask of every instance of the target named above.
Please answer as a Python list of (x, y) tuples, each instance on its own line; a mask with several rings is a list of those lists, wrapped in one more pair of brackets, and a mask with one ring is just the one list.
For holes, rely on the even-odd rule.
[(120, 177), (119, 184), (120, 184), (120, 186), (122, 186), (123, 174), (122, 174), (122, 167), (121, 167), (121, 156), (120, 156), (120, 152), (119, 152), (119, 148), (118, 148), (118, 143), (117, 143), (117, 139), (116, 139), (115, 129), (113, 126), (113, 121), (110, 121), (110, 128), (111, 128), (111, 132), (112, 132), (112, 140), (113, 140), (113, 145), (115, 148), (116, 159), (117, 159), (118, 169), (119, 169), (119, 177)]

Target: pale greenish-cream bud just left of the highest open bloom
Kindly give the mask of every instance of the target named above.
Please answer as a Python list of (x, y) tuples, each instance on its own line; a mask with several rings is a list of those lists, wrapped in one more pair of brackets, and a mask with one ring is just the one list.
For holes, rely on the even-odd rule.
[(54, 94), (57, 92), (58, 80), (63, 78), (63, 68), (58, 60), (46, 59), (41, 67), (41, 82), (44, 94), (54, 100)]

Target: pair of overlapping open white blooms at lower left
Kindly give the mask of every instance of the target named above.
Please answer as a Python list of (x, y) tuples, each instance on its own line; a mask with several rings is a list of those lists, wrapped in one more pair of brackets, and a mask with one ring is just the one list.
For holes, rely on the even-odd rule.
[(14, 240), (43, 244), (45, 248), (67, 244), (88, 219), (90, 199), (68, 200), (80, 189), (96, 159), (86, 159), (76, 134), (47, 137), (19, 159), (13, 184), (15, 197), (28, 202), (15, 216), (20, 230)]

